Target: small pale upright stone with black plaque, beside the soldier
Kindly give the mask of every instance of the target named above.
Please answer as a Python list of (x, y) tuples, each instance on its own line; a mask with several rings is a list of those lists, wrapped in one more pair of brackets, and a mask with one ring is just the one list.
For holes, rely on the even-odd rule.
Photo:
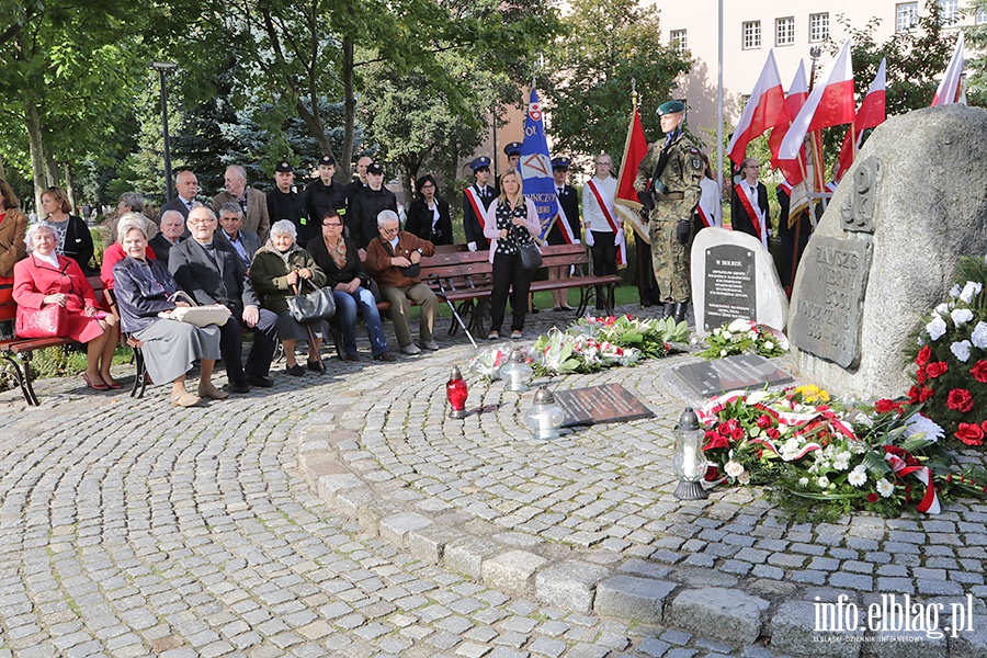
[(692, 242), (692, 306), (700, 337), (737, 318), (785, 330), (789, 299), (771, 254), (757, 238), (704, 228)]

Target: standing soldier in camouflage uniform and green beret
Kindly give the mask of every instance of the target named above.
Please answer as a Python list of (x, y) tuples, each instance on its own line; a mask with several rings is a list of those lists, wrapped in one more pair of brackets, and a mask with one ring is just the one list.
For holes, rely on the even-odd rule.
[(689, 249), (692, 215), (702, 190), (703, 160), (682, 132), (685, 104), (668, 101), (658, 107), (665, 143), (655, 143), (637, 168), (634, 189), (648, 211), (651, 265), (665, 304), (665, 317), (685, 319), (691, 297)]

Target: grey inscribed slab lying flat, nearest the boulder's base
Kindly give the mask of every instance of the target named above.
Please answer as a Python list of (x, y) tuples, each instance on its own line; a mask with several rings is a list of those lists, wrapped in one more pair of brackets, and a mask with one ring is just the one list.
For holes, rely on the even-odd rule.
[(672, 371), (699, 398), (793, 381), (791, 374), (757, 354), (737, 354), (702, 363), (687, 363)]

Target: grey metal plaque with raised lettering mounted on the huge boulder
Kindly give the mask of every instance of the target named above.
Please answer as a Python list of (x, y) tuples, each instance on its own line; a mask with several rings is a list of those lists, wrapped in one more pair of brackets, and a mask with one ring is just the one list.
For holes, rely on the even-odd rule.
[(842, 367), (860, 363), (860, 324), (871, 242), (814, 236), (803, 268), (789, 339)]

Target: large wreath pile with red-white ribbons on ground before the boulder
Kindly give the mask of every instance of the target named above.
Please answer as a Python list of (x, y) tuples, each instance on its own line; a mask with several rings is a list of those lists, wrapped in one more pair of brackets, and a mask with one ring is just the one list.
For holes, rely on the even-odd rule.
[(705, 429), (705, 479), (764, 485), (803, 521), (855, 510), (939, 513), (943, 500), (987, 498), (987, 472), (954, 466), (942, 428), (921, 411), (907, 398), (830, 400), (814, 386), (728, 393), (696, 411)]

